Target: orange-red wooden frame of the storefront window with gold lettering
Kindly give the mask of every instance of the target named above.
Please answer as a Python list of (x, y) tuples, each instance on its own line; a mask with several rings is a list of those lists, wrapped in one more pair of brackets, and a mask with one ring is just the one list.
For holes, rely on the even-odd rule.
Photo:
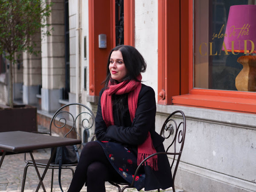
[(193, 87), (194, 9), (193, 0), (158, 0), (158, 104), (256, 113), (254, 92)]

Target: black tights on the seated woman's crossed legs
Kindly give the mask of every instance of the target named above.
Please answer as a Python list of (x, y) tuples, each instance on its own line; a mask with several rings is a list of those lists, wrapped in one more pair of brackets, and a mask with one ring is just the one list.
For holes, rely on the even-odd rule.
[(107, 159), (102, 146), (92, 141), (81, 151), (68, 192), (79, 192), (85, 181), (87, 192), (105, 192), (105, 181), (124, 181)]

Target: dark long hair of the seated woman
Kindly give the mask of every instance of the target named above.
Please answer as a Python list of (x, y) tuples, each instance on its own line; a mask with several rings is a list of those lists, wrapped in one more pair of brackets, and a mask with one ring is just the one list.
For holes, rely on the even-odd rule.
[(127, 76), (125, 76), (125, 78), (123, 79), (123, 81), (125, 80), (136, 80), (136, 77), (140, 74), (145, 72), (146, 68), (147, 68), (147, 64), (143, 58), (143, 56), (140, 54), (140, 52), (132, 46), (129, 45), (119, 45), (116, 46), (115, 48), (113, 48), (111, 50), (111, 52), (109, 53), (108, 56), (108, 64), (107, 64), (107, 77), (105, 79), (105, 81), (103, 81), (103, 84), (105, 84), (105, 89), (108, 87), (108, 82), (110, 80), (111, 77), (111, 73), (109, 71), (109, 64), (110, 64), (110, 57), (113, 51), (120, 51), (122, 53), (122, 57), (123, 57), (123, 61), (125, 64), (125, 67), (128, 71)]

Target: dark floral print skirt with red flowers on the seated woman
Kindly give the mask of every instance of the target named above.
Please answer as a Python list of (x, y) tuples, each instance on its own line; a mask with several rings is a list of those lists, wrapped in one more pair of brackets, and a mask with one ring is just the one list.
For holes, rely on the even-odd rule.
[[(128, 148), (119, 143), (97, 141), (102, 145), (111, 165), (128, 183), (131, 183), (137, 169), (137, 156)], [(135, 177), (134, 187), (140, 191), (145, 186), (145, 174), (138, 173)]]

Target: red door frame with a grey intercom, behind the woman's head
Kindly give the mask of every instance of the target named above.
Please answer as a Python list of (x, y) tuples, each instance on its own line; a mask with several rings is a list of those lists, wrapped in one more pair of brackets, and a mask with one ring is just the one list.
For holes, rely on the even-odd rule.
[[(99, 6), (100, 4), (100, 6)], [(115, 0), (89, 0), (89, 95), (99, 96), (106, 77), (108, 54), (115, 47)], [(107, 35), (100, 49), (98, 35)], [(134, 0), (124, 0), (124, 44), (134, 46)]]

